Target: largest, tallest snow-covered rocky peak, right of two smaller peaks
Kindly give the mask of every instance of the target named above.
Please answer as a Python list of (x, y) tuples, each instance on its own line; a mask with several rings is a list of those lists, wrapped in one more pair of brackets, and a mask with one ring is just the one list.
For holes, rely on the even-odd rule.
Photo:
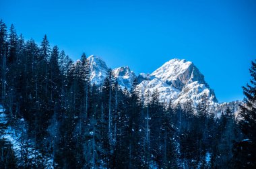
[(138, 87), (146, 95), (146, 91), (158, 90), (160, 101), (184, 103), (192, 99), (197, 105), (203, 93), (207, 93), (212, 103), (217, 103), (214, 91), (205, 82), (203, 74), (192, 62), (172, 59), (152, 74), (141, 74), (141, 83)]

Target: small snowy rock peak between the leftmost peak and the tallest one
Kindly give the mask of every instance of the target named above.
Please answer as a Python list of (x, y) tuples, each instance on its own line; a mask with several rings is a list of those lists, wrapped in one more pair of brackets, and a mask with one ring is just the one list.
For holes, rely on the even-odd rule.
[(136, 75), (130, 70), (128, 66), (123, 66), (120, 68), (115, 68), (113, 71), (114, 78), (117, 78), (118, 84), (124, 89), (131, 89), (133, 80), (135, 80)]

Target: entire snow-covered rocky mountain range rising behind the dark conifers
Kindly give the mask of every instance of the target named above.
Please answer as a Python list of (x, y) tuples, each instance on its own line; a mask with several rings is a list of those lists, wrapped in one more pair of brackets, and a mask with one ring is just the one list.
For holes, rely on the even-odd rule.
[[(88, 57), (91, 68), (91, 80), (92, 83), (102, 84), (108, 66), (98, 56)], [(194, 105), (197, 105), (201, 100), (203, 93), (206, 93), (209, 97), (209, 103), (212, 111), (220, 114), (226, 107), (231, 107), (236, 111), (239, 101), (231, 103), (218, 103), (214, 90), (205, 82), (203, 74), (199, 69), (187, 60), (180, 60), (174, 58), (164, 63), (160, 68), (156, 69), (152, 74), (141, 73), (138, 76), (130, 70), (128, 66), (122, 66), (113, 69), (113, 76), (117, 78), (117, 81), (121, 88), (127, 87), (130, 89), (133, 84), (133, 80), (137, 78), (137, 89), (141, 90), (143, 97), (150, 95), (153, 91), (158, 90), (160, 94), (160, 101), (168, 103), (170, 100), (177, 104), (185, 103), (191, 99)]]

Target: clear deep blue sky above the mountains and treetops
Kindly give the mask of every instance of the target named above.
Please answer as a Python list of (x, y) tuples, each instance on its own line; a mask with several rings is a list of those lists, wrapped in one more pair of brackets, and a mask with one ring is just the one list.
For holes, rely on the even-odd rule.
[(195, 63), (220, 102), (243, 99), (256, 58), (256, 1), (0, 0), (0, 18), (38, 43), (44, 34), (73, 60), (153, 72), (172, 58)]

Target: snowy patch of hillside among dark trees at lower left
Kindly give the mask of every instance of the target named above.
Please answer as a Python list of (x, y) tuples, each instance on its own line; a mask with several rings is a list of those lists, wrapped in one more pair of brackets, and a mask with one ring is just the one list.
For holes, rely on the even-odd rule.
[(42, 154), (36, 150), (34, 140), (28, 139), (27, 133), (26, 121), (23, 118), (8, 117), (5, 114), (5, 109), (0, 105), (0, 140), (11, 144), (18, 166), (26, 166), (28, 163), (36, 164), (36, 160), (40, 162), (44, 160), (46, 168), (54, 168), (53, 158), (44, 154), (43, 159)]

